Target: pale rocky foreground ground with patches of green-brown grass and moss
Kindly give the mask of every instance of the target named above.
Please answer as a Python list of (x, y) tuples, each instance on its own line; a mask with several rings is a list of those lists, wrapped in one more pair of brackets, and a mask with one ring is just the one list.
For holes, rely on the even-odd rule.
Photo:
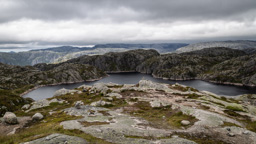
[(1, 118), (3, 144), (256, 144), (256, 95), (141, 80), (61, 89)]

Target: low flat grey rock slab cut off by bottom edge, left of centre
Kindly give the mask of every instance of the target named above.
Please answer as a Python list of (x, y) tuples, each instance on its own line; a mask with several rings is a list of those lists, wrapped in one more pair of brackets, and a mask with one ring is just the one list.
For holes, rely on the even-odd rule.
[(87, 144), (88, 142), (76, 136), (64, 134), (51, 134), (47, 137), (36, 139), (22, 144)]

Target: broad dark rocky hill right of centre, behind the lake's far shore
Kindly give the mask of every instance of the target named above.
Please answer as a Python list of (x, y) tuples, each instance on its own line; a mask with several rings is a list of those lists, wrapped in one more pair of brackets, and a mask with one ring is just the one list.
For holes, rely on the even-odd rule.
[(245, 52), (229, 48), (211, 48), (182, 54), (166, 54), (146, 60), (138, 72), (172, 80), (201, 79), (211, 67)]

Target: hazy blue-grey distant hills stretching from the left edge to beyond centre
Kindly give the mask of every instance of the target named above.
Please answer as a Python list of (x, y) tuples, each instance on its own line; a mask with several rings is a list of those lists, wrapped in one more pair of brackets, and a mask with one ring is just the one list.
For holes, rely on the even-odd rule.
[(60, 63), (83, 55), (103, 55), (108, 52), (124, 52), (133, 49), (155, 49), (159, 53), (173, 52), (187, 46), (182, 43), (165, 44), (100, 44), (94, 47), (62, 46), (55, 48), (31, 50), (28, 52), (0, 52), (0, 62), (10, 65), (35, 65), (38, 63)]

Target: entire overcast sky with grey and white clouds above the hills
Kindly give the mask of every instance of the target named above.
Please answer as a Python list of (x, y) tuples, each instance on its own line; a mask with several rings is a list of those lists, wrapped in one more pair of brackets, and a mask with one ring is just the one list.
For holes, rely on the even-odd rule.
[(236, 39), (256, 39), (256, 0), (0, 0), (2, 46)]

